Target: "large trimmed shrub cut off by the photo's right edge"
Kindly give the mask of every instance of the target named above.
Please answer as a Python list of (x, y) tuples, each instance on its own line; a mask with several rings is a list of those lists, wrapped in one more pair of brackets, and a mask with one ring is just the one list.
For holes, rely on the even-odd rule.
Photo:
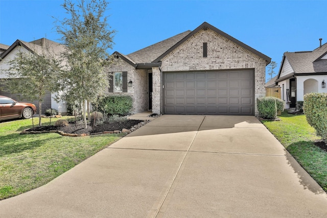
[(304, 96), (303, 111), (316, 134), (327, 143), (327, 93), (309, 93)]

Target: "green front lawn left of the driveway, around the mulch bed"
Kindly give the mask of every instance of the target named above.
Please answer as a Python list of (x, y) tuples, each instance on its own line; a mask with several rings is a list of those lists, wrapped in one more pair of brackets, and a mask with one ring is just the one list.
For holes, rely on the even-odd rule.
[[(57, 119), (52, 118), (51, 124)], [(42, 126), (49, 122), (49, 118), (42, 118)], [(34, 118), (36, 123), (38, 119)], [(32, 119), (0, 123), (0, 200), (48, 183), (122, 137), (116, 134), (85, 137), (19, 134), (29, 128), (32, 128)]]

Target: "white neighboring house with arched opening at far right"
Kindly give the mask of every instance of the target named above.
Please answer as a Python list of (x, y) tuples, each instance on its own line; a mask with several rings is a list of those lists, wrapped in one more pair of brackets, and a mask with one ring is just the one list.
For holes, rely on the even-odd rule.
[(285, 108), (295, 108), (296, 101), (311, 92), (326, 92), (327, 43), (313, 51), (285, 52), (275, 84), (281, 87)]

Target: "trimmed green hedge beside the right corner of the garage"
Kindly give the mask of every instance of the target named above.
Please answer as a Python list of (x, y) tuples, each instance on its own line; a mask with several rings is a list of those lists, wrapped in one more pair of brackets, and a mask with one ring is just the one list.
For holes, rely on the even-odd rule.
[(259, 116), (264, 119), (275, 119), (278, 111), (284, 111), (284, 101), (275, 97), (258, 98), (256, 106)]

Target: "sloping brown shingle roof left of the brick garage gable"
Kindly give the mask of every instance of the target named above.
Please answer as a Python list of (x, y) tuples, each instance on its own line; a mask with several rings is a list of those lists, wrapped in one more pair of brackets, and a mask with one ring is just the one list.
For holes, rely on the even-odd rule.
[(168, 39), (145, 47), (144, 49), (133, 52), (127, 56), (136, 63), (151, 63), (160, 55), (168, 51), (177, 42), (182, 40), (185, 36), (189, 35), (189, 33), (191, 33), (190, 30), (185, 31), (176, 36), (170, 37)]

